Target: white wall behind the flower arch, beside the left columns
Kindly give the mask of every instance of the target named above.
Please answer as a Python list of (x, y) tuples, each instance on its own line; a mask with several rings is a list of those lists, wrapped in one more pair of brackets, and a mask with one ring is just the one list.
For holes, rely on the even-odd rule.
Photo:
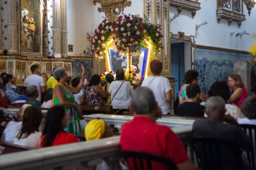
[[(67, 44), (73, 44), (70, 56), (83, 54), (90, 47), (87, 33), (92, 35), (105, 16), (98, 12), (98, 7), (100, 4), (94, 5), (91, 0), (67, 0)], [(131, 0), (131, 7), (126, 7), (124, 13), (143, 17), (143, 1)]]

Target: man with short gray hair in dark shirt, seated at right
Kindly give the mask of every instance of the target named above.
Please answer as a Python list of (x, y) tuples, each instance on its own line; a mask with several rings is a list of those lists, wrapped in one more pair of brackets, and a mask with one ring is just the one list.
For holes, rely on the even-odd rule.
[[(216, 138), (226, 140), (230, 144), (235, 144), (247, 151), (252, 149), (253, 146), (249, 136), (243, 132), (237, 122), (235, 120), (230, 121), (231, 116), (229, 115), (227, 115), (229, 116), (228, 119), (225, 118), (225, 101), (222, 97), (214, 96), (207, 99), (205, 112), (207, 118), (196, 120), (193, 124), (194, 138)], [(231, 122), (236, 122), (236, 124), (230, 124)], [(240, 169), (241, 167), (236, 167), (236, 165), (240, 161), (241, 166), (243, 166), (242, 157), (238, 158), (240, 160), (234, 160), (234, 155), (232, 155), (234, 152), (230, 149), (222, 148), (220, 153), (222, 158), (220, 160), (223, 161), (225, 169)]]

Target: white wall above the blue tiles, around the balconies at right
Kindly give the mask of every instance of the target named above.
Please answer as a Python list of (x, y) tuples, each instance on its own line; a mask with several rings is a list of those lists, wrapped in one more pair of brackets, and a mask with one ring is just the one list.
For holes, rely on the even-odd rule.
[[(198, 30), (196, 44), (203, 46), (214, 46), (220, 48), (228, 48), (234, 50), (249, 50), (249, 46), (256, 40), (252, 38), (252, 34), (256, 34), (256, 8), (251, 10), (251, 16), (248, 15), (247, 7), (244, 5), (244, 14), (246, 15), (245, 22), (242, 22), (241, 28), (238, 28), (237, 22), (232, 22), (228, 26), (228, 21), (222, 19), (218, 24), (216, 17), (216, 1), (199, 1), (201, 3), (201, 9), (197, 11), (197, 14), (192, 19), (191, 12), (183, 9), (179, 17), (174, 19), (170, 24), (170, 32), (177, 34), (177, 32), (185, 32), (186, 36), (195, 35), (195, 24), (201, 24), (206, 21), (205, 26), (201, 26)], [(177, 11), (176, 7), (170, 7), (170, 18)], [(236, 37), (230, 35), (230, 32), (246, 32), (250, 33), (250, 36), (244, 35), (242, 37)]]

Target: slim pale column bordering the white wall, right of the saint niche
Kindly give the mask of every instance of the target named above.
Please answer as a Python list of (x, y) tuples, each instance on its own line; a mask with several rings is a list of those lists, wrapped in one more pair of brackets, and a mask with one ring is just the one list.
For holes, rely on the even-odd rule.
[(67, 57), (67, 0), (61, 0), (61, 55)]

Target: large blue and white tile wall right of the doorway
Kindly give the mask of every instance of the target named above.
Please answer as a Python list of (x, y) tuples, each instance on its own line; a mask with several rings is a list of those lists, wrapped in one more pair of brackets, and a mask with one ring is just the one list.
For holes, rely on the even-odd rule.
[(199, 72), (201, 89), (207, 92), (215, 81), (227, 81), (228, 75), (233, 73), (233, 61), (249, 61), (251, 57), (249, 54), (195, 49), (195, 69)]

